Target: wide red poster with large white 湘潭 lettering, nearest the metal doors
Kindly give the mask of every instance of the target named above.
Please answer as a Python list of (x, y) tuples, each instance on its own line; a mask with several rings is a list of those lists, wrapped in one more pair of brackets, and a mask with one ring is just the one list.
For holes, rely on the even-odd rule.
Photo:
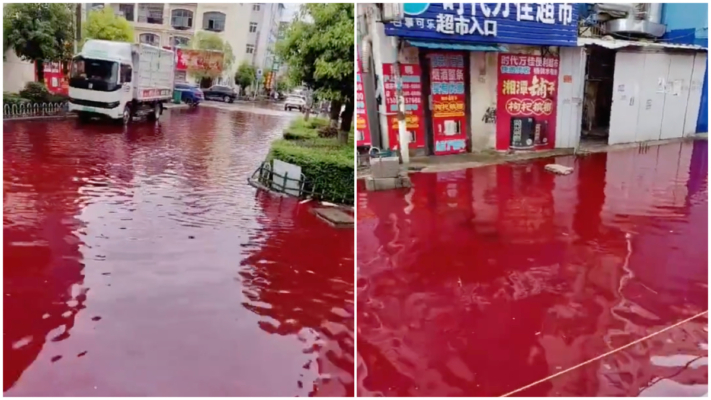
[(496, 149), (555, 146), (558, 58), (499, 54)]

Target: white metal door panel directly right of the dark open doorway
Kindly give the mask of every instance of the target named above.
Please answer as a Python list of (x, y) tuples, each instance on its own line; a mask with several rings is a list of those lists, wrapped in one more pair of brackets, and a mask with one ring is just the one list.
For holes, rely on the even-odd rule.
[(643, 53), (617, 52), (608, 144), (635, 141), (642, 70), (644, 70)]

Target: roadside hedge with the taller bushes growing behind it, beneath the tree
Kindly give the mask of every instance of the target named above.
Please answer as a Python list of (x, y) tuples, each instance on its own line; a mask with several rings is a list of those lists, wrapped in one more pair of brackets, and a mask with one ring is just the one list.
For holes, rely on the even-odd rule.
[(300, 166), (307, 181), (304, 189), (313, 191), (315, 198), (353, 204), (353, 132), (344, 146), (335, 138), (318, 137), (317, 129), (327, 124), (323, 119), (299, 118), (284, 131), (284, 139), (272, 143), (267, 159)]

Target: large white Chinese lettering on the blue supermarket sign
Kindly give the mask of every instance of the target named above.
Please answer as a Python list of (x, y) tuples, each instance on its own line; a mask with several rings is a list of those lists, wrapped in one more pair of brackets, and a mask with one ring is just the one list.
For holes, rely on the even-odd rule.
[(517, 22), (546, 25), (573, 23), (573, 4), (568, 3), (468, 3), (466, 7), (465, 3), (443, 3), (442, 8), (445, 13), (437, 14), (435, 19), (406, 16), (392, 25), (428, 29), (446, 35), (497, 36), (498, 21), (494, 19), (497, 17), (506, 19), (515, 15)]

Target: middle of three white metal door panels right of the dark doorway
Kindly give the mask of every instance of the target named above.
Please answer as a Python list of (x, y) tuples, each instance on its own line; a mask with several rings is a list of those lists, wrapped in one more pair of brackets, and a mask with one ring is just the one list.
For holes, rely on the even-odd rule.
[(649, 53), (644, 56), (635, 136), (637, 142), (657, 140), (662, 132), (664, 88), (670, 60), (669, 55), (665, 53)]

